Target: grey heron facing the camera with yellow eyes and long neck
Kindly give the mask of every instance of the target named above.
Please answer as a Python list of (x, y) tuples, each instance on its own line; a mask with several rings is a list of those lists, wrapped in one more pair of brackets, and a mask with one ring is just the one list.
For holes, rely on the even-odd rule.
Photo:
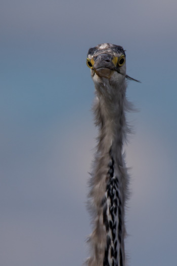
[(98, 128), (97, 146), (89, 180), (87, 207), (93, 232), (88, 237), (90, 257), (86, 266), (125, 266), (125, 207), (129, 175), (123, 144), (131, 128), (126, 112), (133, 109), (126, 98), (126, 55), (121, 46), (109, 43), (90, 48), (86, 65), (95, 85), (93, 112)]

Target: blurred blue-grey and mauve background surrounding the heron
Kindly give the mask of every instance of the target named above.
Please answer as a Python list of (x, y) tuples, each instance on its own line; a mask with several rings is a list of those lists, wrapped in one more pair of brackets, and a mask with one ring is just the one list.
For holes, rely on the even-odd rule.
[(1, 266), (79, 266), (97, 130), (90, 47), (126, 50), (130, 266), (176, 265), (176, 0), (1, 0)]

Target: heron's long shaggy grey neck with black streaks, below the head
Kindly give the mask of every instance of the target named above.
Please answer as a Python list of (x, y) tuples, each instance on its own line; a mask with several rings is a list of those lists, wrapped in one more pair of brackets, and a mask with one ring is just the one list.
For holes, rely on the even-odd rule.
[[(105, 86), (105, 84), (103, 85)], [(98, 145), (91, 177), (90, 208), (94, 231), (90, 237), (91, 257), (88, 266), (124, 266), (124, 204), (127, 172), (122, 157), (122, 143), (126, 135), (125, 84), (114, 97), (107, 88), (96, 88), (95, 124), (99, 128)]]

